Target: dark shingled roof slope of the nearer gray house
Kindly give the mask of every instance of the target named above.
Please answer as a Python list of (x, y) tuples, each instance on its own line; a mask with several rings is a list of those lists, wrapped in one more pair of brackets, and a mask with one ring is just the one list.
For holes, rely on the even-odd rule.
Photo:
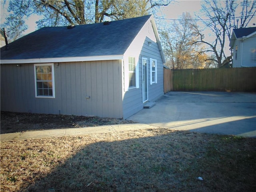
[(1, 60), (123, 55), (150, 17), (44, 27), (2, 47)]

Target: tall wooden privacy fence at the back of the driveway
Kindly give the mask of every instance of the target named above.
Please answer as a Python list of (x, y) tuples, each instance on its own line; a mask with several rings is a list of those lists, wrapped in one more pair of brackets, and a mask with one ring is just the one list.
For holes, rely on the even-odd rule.
[(164, 93), (169, 91), (255, 92), (256, 67), (164, 69)]

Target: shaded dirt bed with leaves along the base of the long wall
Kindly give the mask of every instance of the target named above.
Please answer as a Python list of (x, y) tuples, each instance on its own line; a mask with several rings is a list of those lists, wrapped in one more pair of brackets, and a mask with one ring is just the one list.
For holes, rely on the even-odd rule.
[(1, 134), (28, 130), (79, 128), (113, 124), (129, 124), (133, 121), (97, 116), (70, 116), (1, 112)]

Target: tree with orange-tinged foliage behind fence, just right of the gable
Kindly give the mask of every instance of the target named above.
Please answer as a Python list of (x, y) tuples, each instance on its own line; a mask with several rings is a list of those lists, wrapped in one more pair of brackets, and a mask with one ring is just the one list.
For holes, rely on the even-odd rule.
[(168, 27), (161, 30), (160, 35), (166, 56), (167, 65), (172, 69), (204, 68), (206, 66), (206, 54), (202, 52), (202, 46), (194, 44), (200, 39), (194, 35), (193, 28), (196, 23), (191, 15), (183, 13), (178, 22), (173, 21)]

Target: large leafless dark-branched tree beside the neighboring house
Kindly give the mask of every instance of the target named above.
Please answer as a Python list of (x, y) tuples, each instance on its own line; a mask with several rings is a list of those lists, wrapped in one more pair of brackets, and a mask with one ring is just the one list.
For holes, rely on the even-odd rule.
[[(198, 26), (194, 26), (195, 35), (200, 40), (194, 41), (197, 43), (204, 43), (208, 48), (203, 52), (212, 53), (213, 60), (218, 67), (222, 67), (231, 62), (231, 52), (229, 55), (225, 54), (225, 43), (230, 40), (233, 28), (238, 28), (236, 18), (240, 18), (240, 27), (246, 27), (248, 22), (255, 17), (255, 1), (241, 1), (234, 0), (226, 1), (204, 1), (202, 4), (203, 15), (208, 19), (202, 19), (205, 28), (211, 30), (215, 35), (215, 40), (208, 42), (205, 40), (204, 34), (199, 30)], [(238, 7), (242, 7), (242, 11), (238, 15)]]

